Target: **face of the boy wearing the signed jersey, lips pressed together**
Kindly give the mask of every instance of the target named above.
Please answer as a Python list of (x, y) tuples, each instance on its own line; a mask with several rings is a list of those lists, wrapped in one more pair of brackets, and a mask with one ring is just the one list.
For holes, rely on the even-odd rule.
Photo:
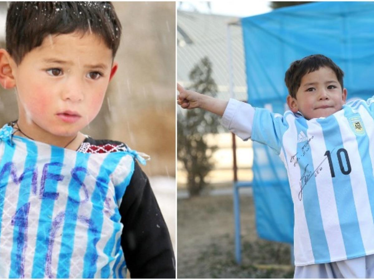
[(301, 78), (296, 98), (287, 97), (292, 112), (300, 111), (306, 119), (327, 117), (341, 110), (346, 102), (347, 90), (342, 90), (335, 72), (321, 67)]

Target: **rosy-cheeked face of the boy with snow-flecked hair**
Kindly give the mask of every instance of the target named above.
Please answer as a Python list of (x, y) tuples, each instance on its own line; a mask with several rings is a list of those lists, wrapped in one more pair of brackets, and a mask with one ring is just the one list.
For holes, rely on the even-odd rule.
[(117, 69), (112, 59), (95, 34), (47, 36), (18, 66), (11, 64), (19, 127), (45, 137), (76, 135), (101, 108)]

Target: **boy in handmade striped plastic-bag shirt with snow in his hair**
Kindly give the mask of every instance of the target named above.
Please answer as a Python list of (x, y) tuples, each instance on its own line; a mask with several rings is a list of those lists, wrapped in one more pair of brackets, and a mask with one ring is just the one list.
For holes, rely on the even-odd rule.
[(145, 160), (80, 133), (118, 64), (109, 2), (14, 2), (0, 83), (19, 118), (0, 130), (0, 278), (175, 278)]

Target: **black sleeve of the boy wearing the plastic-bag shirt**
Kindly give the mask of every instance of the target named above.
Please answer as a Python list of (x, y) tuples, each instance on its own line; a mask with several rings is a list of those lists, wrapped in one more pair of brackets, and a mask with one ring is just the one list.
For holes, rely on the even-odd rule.
[(175, 278), (169, 231), (148, 177), (137, 162), (119, 212), (121, 246), (131, 278)]

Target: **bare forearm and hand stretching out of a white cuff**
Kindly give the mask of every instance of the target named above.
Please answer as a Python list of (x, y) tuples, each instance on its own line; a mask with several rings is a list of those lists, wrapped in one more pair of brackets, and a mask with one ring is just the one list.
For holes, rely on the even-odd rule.
[(197, 93), (196, 91), (186, 90), (180, 84), (177, 84), (177, 90), (179, 91), (177, 103), (183, 109), (201, 108), (222, 116), (227, 107), (227, 101)]

